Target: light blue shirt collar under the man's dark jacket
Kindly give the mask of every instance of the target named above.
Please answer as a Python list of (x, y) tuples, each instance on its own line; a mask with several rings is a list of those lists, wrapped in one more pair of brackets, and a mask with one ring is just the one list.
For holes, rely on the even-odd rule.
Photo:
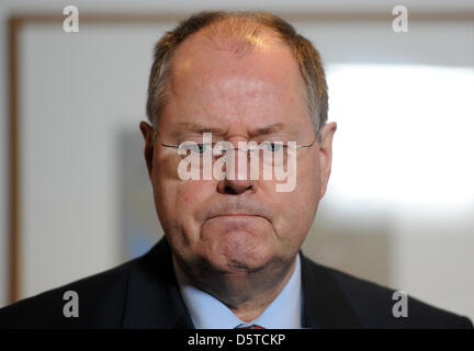
[(267, 329), (301, 329), (302, 282), (300, 254), (286, 285), (263, 313), (244, 322), (221, 301), (192, 285), (173, 259), (174, 273), (184, 304), (196, 329), (233, 329), (238, 325), (259, 325)]

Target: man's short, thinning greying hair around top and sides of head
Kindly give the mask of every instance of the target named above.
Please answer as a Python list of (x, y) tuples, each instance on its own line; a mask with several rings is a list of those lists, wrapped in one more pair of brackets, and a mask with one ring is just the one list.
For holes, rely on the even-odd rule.
[[(224, 25), (218, 25), (224, 24)], [(206, 29), (206, 36), (217, 34), (233, 39), (236, 54), (244, 54), (262, 36), (262, 30), (270, 30), (286, 44), (297, 60), (300, 72), (306, 86), (307, 109), (318, 139), (319, 129), (327, 122), (328, 93), (320, 56), (313, 44), (296, 33), (283, 19), (260, 11), (204, 11), (182, 21), (174, 30), (167, 32), (155, 46), (146, 112), (149, 122), (157, 127), (158, 118), (166, 105), (171, 58), (178, 46), (192, 34)]]

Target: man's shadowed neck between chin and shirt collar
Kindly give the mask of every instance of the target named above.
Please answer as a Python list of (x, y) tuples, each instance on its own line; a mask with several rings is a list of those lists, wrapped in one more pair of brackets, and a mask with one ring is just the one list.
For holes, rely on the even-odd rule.
[(295, 259), (284, 263), (275, 260), (258, 271), (218, 273), (215, 270), (196, 270), (196, 265), (188, 269), (179, 260), (176, 263), (195, 286), (219, 299), (242, 321), (251, 321), (286, 285), (295, 269)]

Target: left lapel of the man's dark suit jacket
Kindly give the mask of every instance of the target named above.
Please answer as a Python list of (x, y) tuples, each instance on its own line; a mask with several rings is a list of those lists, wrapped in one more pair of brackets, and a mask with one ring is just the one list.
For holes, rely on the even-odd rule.
[(124, 328), (193, 328), (174, 278), (171, 249), (162, 238), (129, 271)]

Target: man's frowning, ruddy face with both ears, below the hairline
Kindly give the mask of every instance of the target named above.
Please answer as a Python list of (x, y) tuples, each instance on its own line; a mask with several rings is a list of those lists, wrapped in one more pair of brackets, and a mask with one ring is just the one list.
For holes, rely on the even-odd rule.
[[(314, 141), (304, 82), (290, 48), (273, 39), (237, 56), (195, 35), (173, 56), (169, 89), (158, 140), (151, 140), (145, 123), (142, 131), (157, 213), (174, 254), (189, 265), (230, 274), (290, 262), (326, 190), (334, 124), (323, 128), (323, 143), (296, 151), (291, 192), (276, 192), (282, 181), (263, 180), (261, 173), (259, 180), (183, 181), (178, 176), (182, 156), (159, 145), (200, 141), (206, 131), (213, 141), (234, 146), (239, 140)], [(245, 157), (240, 154), (235, 157)]]

